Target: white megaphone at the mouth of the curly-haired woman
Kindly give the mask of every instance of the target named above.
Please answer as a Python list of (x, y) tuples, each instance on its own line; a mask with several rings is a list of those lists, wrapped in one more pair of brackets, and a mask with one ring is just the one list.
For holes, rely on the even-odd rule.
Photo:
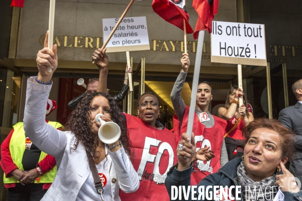
[(99, 138), (105, 144), (113, 144), (121, 136), (120, 127), (114, 122), (105, 122), (101, 119), (101, 117), (105, 117), (103, 114), (97, 114), (96, 121), (101, 123), (101, 127), (99, 128)]

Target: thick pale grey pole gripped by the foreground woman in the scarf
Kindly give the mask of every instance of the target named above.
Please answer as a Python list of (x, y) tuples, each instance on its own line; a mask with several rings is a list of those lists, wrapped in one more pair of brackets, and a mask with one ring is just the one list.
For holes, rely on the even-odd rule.
[(204, 30), (201, 30), (199, 31), (198, 34), (197, 51), (196, 51), (196, 59), (195, 59), (195, 66), (194, 66), (193, 83), (192, 83), (191, 103), (190, 103), (189, 119), (188, 119), (188, 127), (187, 127), (187, 134), (190, 139), (192, 136), (193, 119), (195, 114), (196, 93), (197, 93), (197, 86), (198, 86), (199, 72), (200, 72), (200, 65), (201, 65), (203, 39), (204, 39)]

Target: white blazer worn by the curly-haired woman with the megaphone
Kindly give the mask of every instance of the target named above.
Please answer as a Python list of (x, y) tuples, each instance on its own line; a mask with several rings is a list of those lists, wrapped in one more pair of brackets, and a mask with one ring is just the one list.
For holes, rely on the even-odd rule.
[[(56, 130), (45, 122), (50, 89), (51, 85), (34, 83), (33, 77), (28, 79), (24, 130), (41, 151), (56, 159), (57, 174), (41, 200), (75, 200), (91, 170), (81, 143), (76, 150), (70, 152), (75, 141), (74, 134)], [(120, 200), (119, 189), (134, 192), (139, 187), (139, 179), (123, 147), (108, 153), (105, 160), (108, 160), (112, 198)]]

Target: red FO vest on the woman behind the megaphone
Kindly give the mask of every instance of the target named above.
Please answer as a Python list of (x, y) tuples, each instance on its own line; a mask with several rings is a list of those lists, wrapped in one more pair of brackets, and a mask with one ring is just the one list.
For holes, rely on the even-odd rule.
[(132, 164), (140, 182), (136, 192), (120, 191), (121, 200), (170, 200), (165, 180), (170, 167), (177, 163), (178, 136), (166, 128), (158, 130), (137, 117), (124, 115), (134, 148)]

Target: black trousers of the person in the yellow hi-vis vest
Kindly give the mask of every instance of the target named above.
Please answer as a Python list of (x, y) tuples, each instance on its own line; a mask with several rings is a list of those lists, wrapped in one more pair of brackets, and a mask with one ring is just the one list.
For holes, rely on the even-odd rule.
[(8, 190), (9, 201), (39, 201), (47, 191), (43, 190), (43, 183), (26, 183), (25, 186), (16, 183), (16, 187)]

